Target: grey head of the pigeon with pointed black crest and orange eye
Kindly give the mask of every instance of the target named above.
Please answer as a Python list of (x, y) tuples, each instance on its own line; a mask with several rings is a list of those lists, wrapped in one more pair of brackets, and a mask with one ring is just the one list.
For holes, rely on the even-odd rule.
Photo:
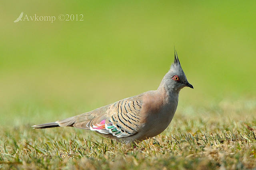
[(164, 83), (165, 87), (167, 87), (168, 90), (174, 90), (178, 92), (183, 87), (190, 87), (194, 89), (194, 87), (190, 83), (188, 83), (188, 80), (186, 78), (184, 71), (182, 70), (182, 67), (180, 65), (180, 60), (178, 58), (178, 54), (175, 49), (174, 49), (174, 63), (172, 63), (170, 70), (164, 76), (162, 83)]

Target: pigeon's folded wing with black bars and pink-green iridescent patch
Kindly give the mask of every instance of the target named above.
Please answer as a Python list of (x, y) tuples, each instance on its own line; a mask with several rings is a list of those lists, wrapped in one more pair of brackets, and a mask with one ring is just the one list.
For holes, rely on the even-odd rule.
[(138, 95), (56, 123), (122, 138), (136, 134), (142, 127), (142, 105), (142, 95)]

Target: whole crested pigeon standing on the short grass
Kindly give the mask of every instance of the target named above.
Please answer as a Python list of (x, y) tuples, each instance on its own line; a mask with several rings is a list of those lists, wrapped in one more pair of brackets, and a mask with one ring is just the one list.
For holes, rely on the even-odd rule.
[(188, 83), (174, 49), (174, 63), (157, 90), (122, 99), (62, 121), (32, 127), (76, 127), (94, 130), (126, 143), (145, 140), (160, 134), (168, 127), (177, 109), (179, 92), (183, 87), (194, 89)]

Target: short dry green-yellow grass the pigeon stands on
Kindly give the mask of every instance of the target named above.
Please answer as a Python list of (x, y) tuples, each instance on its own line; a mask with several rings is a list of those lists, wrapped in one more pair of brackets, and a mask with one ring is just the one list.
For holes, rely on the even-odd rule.
[(0, 168), (256, 168), (255, 112), (254, 99), (185, 107), (164, 132), (134, 146), (75, 128), (2, 126)]

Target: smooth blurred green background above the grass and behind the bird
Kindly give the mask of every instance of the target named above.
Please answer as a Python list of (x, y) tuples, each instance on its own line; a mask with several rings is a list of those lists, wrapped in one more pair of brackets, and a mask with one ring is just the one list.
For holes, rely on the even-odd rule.
[[(180, 58), (184, 107), (255, 99), (256, 1), (0, 1), (0, 123), (56, 121), (157, 89)], [(47, 21), (20, 21), (55, 16)], [(84, 21), (58, 21), (83, 14)]]

